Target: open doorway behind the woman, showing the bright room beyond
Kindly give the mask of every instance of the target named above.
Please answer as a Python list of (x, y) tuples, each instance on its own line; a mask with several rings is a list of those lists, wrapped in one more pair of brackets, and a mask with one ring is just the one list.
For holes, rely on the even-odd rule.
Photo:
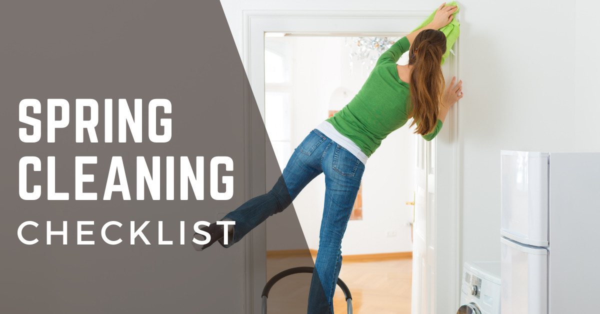
[[(400, 38), (265, 34), (265, 125), (281, 171), (304, 137), (359, 91), (382, 49)], [(374, 50), (376, 46), (380, 49)], [(407, 62), (405, 55), (398, 63)], [(410, 313), (413, 207), (406, 203), (413, 200), (415, 158), (415, 136), (403, 127), (390, 134), (367, 163), (342, 243), (340, 278), (352, 291), (355, 313)], [(325, 180), (319, 175), (293, 202), (295, 213), (266, 221), (269, 277), (279, 271), (278, 261), (294, 254), (293, 244), (282, 247), (276, 240), (294, 228), (285, 226), (295, 222), (286, 215), (297, 215), (307, 242), (296, 249), (308, 244), (316, 255), (324, 198)], [(277, 271), (271, 271), (271, 265)], [(336, 312), (346, 307), (340, 288), (334, 307)]]

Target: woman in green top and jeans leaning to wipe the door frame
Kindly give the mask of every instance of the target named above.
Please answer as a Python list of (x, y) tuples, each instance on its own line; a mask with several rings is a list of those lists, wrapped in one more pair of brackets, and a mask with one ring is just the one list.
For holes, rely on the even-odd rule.
[[(270, 192), (250, 199), (224, 217), (235, 221), (235, 226), (228, 227), (228, 244), (223, 241), (223, 226), (213, 223), (202, 229), (211, 235), (211, 241), (194, 244), (196, 250), (206, 249), (215, 241), (224, 247), (238, 242), (269, 216), (283, 211), (313, 178), (324, 173), (325, 207), (308, 313), (332, 313), (341, 268), (341, 241), (367, 158), (389, 133), (410, 118), (410, 126), (416, 124), (415, 133), (433, 139), (450, 107), (463, 97), (462, 82), (454, 85), (455, 78), (444, 90), (440, 64), (446, 37), (437, 29), (448, 25), (457, 10), (444, 5), (437, 9), (433, 22), (398, 40), (380, 56), (352, 101), (318, 125), (294, 150)], [(406, 50), (409, 64), (397, 65)], [(200, 234), (194, 238), (205, 240)]]

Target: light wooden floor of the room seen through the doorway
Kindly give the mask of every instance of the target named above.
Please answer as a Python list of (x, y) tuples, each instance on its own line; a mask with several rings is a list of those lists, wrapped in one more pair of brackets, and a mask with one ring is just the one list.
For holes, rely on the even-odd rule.
[[(304, 257), (269, 256), (267, 276), (296, 266), (312, 266)], [(398, 258), (343, 261), (340, 278), (352, 292), (356, 314), (409, 314), (412, 284), (412, 259)], [(280, 280), (271, 289), (268, 313), (306, 313), (310, 274), (295, 274)], [(346, 313), (344, 293), (338, 287), (334, 295), (336, 314)]]

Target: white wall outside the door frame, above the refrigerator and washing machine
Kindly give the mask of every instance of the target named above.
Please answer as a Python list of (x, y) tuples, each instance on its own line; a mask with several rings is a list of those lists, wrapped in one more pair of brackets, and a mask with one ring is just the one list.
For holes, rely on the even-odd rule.
[[(242, 10), (433, 10), (440, 1), (222, 0), (242, 51)], [(500, 258), (500, 149), (600, 151), (599, 4), (464, 0), (458, 73), (463, 261)]]

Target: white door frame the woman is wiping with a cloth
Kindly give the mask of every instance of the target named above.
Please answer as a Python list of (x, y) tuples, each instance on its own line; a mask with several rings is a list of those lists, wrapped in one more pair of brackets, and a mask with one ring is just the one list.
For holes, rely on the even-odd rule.
[[(352, 35), (407, 34), (422, 22), (431, 11), (326, 11), (326, 10), (244, 10), (242, 60), (257, 107), (264, 121), (265, 109), (265, 32), (296, 32), (315, 35)], [(460, 19), (460, 17), (459, 17)], [(454, 53), (446, 62), (450, 62), (451, 76), (458, 75), (458, 41)], [(446, 78), (448, 80), (448, 78)], [(252, 105), (251, 95), (245, 101), (245, 122), (247, 130), (251, 127), (251, 116), (256, 107)], [(460, 300), (461, 250), (460, 250), (460, 142), (458, 141), (458, 107), (454, 106), (437, 135), (436, 159), (436, 222), (433, 225), (437, 252), (434, 255), (436, 274), (432, 313), (445, 313), (458, 309)], [(255, 116), (256, 116), (256, 112)], [(247, 141), (255, 136), (246, 136)], [(258, 145), (258, 146), (256, 146)], [(246, 143), (247, 156), (260, 156), (251, 148), (264, 147), (265, 143)], [(265, 160), (254, 160), (248, 163), (264, 163)], [(247, 184), (253, 176), (264, 177), (264, 174), (248, 174)], [(248, 196), (256, 195), (256, 186), (247, 191)], [(260, 189), (260, 188), (259, 188)], [(266, 192), (265, 191), (262, 193)], [(429, 217), (428, 217), (429, 219)], [(439, 223), (438, 223), (439, 222)], [(254, 229), (246, 241), (246, 313), (260, 313), (260, 293), (266, 283), (266, 270), (257, 265), (265, 265), (266, 228), (265, 225)]]

